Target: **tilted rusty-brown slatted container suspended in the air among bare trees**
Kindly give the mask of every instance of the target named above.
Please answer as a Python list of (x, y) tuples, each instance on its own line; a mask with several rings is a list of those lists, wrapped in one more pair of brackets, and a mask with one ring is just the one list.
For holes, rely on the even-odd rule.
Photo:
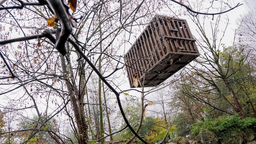
[(156, 15), (124, 55), (130, 87), (136, 72), (144, 86), (164, 82), (200, 55), (195, 41), (186, 20)]

